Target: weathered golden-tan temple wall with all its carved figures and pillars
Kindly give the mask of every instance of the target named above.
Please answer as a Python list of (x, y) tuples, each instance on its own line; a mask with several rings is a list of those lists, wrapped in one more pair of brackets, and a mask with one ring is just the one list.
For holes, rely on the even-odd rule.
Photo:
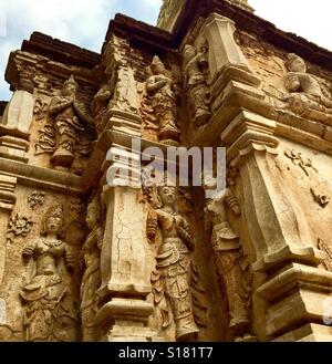
[[(331, 61), (242, 0), (117, 14), (101, 54), (33, 33), (0, 103), (0, 340), (331, 341)], [(226, 194), (141, 187), (136, 138), (226, 146)]]

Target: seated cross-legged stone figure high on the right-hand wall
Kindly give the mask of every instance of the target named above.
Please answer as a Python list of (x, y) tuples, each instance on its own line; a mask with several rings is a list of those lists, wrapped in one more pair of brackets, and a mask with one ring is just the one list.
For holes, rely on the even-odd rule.
[(321, 87), (315, 76), (307, 72), (303, 59), (294, 53), (288, 54), (284, 76), (286, 89), (292, 93), (289, 105), (297, 114), (309, 113), (310, 110), (332, 114), (332, 100), (326, 90)]

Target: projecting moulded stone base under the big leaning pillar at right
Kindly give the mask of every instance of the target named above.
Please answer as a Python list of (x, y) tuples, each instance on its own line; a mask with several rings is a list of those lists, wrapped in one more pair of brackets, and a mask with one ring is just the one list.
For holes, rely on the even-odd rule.
[(299, 263), (287, 266), (257, 291), (268, 303), (267, 334), (276, 337), (303, 322), (323, 324), (331, 312), (326, 312), (331, 292), (331, 272)]

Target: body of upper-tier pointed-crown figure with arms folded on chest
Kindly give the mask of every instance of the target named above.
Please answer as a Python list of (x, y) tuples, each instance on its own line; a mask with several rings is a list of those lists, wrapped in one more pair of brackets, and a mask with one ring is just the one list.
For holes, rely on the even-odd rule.
[(152, 112), (155, 117), (159, 141), (166, 144), (177, 144), (180, 133), (176, 125), (177, 104), (173, 81), (158, 56), (154, 58), (151, 71), (153, 75), (146, 81), (148, 112)]

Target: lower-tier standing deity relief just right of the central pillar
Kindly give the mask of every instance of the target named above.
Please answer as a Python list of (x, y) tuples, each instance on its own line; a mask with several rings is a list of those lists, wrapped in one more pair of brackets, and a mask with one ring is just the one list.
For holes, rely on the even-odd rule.
[[(205, 292), (194, 266), (195, 241), (190, 225), (178, 211), (177, 188), (157, 188), (158, 201), (147, 217), (147, 238), (157, 243), (156, 269), (152, 272), (154, 302), (160, 329), (174, 322), (177, 341), (197, 340), (199, 325), (206, 325)], [(158, 239), (157, 239), (158, 237)]]

